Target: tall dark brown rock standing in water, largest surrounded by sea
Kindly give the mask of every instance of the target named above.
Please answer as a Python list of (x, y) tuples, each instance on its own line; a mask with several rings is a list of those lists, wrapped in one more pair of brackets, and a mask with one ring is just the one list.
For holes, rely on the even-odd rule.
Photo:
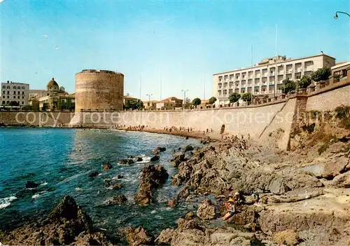
[(147, 165), (142, 171), (139, 191), (135, 195), (135, 201), (141, 204), (149, 204), (153, 200), (153, 189), (164, 184), (169, 177), (167, 170), (161, 165)]

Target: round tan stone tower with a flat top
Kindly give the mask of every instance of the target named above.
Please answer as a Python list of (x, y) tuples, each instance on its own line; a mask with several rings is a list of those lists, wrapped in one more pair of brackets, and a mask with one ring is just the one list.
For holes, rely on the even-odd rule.
[(76, 112), (122, 110), (124, 74), (87, 69), (76, 74)]

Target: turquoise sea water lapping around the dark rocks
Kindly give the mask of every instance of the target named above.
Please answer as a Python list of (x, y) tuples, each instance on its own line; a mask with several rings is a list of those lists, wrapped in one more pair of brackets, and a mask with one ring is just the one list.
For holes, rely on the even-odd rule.
[[(171, 186), (170, 177), (176, 172), (169, 160), (172, 149), (192, 144), (196, 139), (146, 132), (55, 128), (0, 128), (0, 230), (20, 226), (36, 217), (44, 217), (63, 196), (76, 199), (78, 205), (92, 217), (94, 226), (114, 235), (124, 226), (144, 226), (151, 233), (174, 226), (176, 219), (186, 214), (187, 207), (167, 206), (178, 187)], [(153, 205), (134, 204), (134, 194), (146, 161), (118, 165), (120, 158), (145, 155), (149, 159), (156, 146), (165, 146), (158, 164), (169, 173), (167, 183), (156, 193)], [(113, 168), (104, 172), (101, 165), (108, 160)], [(94, 178), (87, 175), (102, 172)], [(104, 179), (123, 175), (123, 188), (104, 188)], [(41, 184), (36, 190), (25, 189), (27, 180)], [(125, 205), (106, 207), (104, 200), (124, 194)]]

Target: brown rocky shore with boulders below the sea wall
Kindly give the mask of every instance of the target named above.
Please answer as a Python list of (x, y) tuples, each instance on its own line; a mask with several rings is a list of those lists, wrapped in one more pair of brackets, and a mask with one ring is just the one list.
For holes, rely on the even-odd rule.
[[(325, 130), (332, 138), (319, 137)], [(210, 137), (210, 133), (204, 133), (196, 134)], [(172, 134), (179, 132), (174, 130)], [(349, 245), (348, 128), (302, 130), (293, 138), (292, 151), (281, 151), (247, 137), (218, 139), (203, 139), (204, 145), (198, 149), (181, 146), (174, 151), (172, 165), (178, 172), (172, 177), (162, 165), (152, 162), (142, 171), (135, 203), (155, 203), (156, 191), (168, 178), (172, 185), (179, 186), (179, 193), (169, 198), (168, 204), (186, 204), (188, 214), (179, 218), (174, 228), (151, 235), (140, 224), (136, 228), (120, 228), (120, 238), (107, 238), (104, 232), (94, 229), (90, 217), (73, 198), (65, 197), (47, 219), (0, 233), (0, 242), (123, 245), (120, 242), (127, 240), (130, 245)], [(159, 152), (155, 156), (157, 160), (162, 158)], [(235, 214), (223, 222), (223, 202), (232, 192), (239, 192), (241, 203)], [(125, 197), (120, 196), (107, 205), (123, 206), (124, 201)]]

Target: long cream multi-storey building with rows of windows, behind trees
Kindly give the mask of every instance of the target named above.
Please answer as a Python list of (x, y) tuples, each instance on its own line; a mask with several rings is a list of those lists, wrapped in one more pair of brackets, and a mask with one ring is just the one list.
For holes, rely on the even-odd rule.
[(264, 59), (253, 67), (214, 74), (216, 104), (229, 104), (228, 97), (232, 93), (278, 96), (284, 79), (297, 81), (317, 69), (334, 65), (335, 58), (323, 53), (298, 59), (278, 55)]

